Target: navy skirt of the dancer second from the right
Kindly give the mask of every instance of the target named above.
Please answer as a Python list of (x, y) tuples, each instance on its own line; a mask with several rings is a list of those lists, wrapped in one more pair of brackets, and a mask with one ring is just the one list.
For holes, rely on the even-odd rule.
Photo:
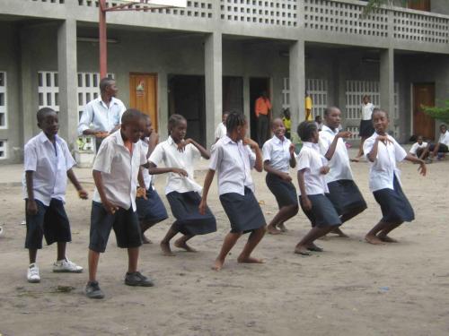
[(353, 180), (333, 181), (328, 183), (328, 188), (329, 194), (326, 195), (339, 216), (367, 208), (365, 199)]

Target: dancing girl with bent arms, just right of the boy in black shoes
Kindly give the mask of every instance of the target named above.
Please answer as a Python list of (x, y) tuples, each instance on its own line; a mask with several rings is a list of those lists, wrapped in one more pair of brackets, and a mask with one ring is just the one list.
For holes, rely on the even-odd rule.
[[(196, 252), (187, 245), (187, 241), (197, 235), (215, 232), (216, 218), (208, 208), (199, 213), (201, 185), (193, 179), (194, 159), (201, 156), (209, 159), (209, 151), (192, 139), (184, 139), (187, 131), (184, 116), (170, 116), (168, 128), (170, 136), (154, 148), (148, 159), (148, 171), (151, 175), (168, 173), (165, 195), (176, 221), (163, 237), (161, 248), (164, 255), (174, 255), (170, 248), (172, 237), (178, 232), (182, 233), (183, 236), (175, 241), (174, 246)], [(166, 168), (157, 168), (162, 162)]]

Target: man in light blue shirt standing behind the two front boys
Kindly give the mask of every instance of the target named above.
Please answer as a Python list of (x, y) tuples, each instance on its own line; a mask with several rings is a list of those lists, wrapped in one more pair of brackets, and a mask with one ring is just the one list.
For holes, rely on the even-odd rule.
[(102, 140), (120, 128), (121, 116), (127, 109), (122, 101), (116, 98), (118, 91), (113, 79), (102, 78), (101, 96), (88, 102), (81, 115), (78, 134), (95, 136), (97, 151)]

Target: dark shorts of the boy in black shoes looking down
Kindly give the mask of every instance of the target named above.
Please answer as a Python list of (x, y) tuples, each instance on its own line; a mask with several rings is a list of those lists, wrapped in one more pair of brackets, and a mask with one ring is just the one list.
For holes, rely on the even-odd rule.
[(140, 225), (132, 207), (128, 210), (119, 208), (114, 214), (110, 214), (100, 202), (92, 202), (89, 249), (101, 253), (106, 251), (112, 228), (117, 246), (133, 248), (142, 245)]

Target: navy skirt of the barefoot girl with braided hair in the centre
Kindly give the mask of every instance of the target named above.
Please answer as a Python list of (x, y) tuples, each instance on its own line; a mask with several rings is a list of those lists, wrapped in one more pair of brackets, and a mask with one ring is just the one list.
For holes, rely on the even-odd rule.
[(245, 186), (245, 194), (226, 193), (220, 195), (220, 202), (231, 222), (231, 232), (247, 233), (266, 225), (259, 202), (251, 189)]

